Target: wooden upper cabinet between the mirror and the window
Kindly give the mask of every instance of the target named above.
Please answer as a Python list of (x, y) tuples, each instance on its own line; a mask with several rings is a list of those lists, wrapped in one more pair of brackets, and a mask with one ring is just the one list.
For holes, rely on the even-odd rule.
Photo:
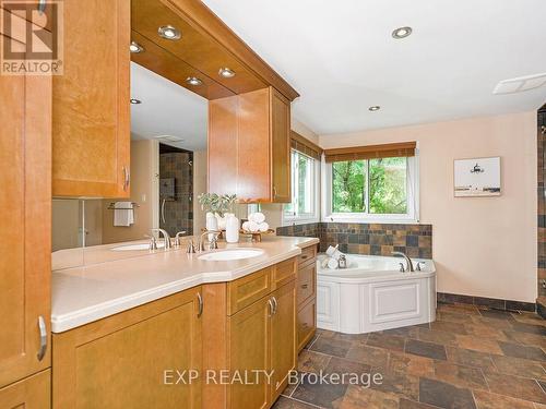
[(209, 192), (290, 202), (290, 104), (273, 87), (209, 103)]

